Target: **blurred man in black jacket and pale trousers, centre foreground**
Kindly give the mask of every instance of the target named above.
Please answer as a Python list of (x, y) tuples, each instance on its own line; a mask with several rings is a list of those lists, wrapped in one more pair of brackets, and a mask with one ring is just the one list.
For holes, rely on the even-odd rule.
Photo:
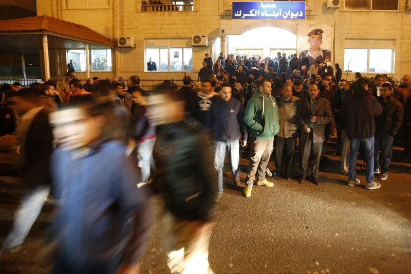
[(157, 124), (152, 183), (164, 198), (164, 245), (172, 273), (212, 272), (208, 262), (217, 173), (208, 135), (184, 120), (184, 100), (159, 91), (148, 100)]

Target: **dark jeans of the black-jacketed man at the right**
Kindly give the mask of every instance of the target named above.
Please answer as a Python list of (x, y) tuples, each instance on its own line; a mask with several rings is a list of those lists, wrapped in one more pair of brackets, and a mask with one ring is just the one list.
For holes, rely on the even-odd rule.
[(388, 134), (378, 134), (375, 137), (375, 144), (374, 144), (374, 169), (377, 170), (380, 168), (380, 155), (379, 151), (382, 151), (382, 166), (381, 172), (388, 172), (389, 170), (389, 163), (391, 162), (391, 156), (393, 156), (393, 140), (388, 136)]

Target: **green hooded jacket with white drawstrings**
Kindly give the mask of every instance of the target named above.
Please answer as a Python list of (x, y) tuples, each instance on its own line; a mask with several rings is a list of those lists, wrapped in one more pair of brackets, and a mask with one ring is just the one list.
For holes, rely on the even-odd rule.
[(255, 92), (247, 104), (244, 122), (250, 127), (251, 135), (269, 140), (279, 131), (278, 108), (275, 99)]

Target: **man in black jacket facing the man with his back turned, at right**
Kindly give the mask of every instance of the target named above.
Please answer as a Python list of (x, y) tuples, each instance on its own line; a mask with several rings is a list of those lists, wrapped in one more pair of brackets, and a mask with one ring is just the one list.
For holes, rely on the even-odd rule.
[(374, 145), (374, 174), (380, 174), (379, 150), (382, 151), (383, 163), (379, 180), (388, 177), (389, 163), (393, 155), (393, 140), (402, 125), (403, 107), (393, 97), (393, 86), (384, 83), (381, 86), (381, 96), (377, 100), (383, 106), (382, 115), (376, 120), (376, 136)]

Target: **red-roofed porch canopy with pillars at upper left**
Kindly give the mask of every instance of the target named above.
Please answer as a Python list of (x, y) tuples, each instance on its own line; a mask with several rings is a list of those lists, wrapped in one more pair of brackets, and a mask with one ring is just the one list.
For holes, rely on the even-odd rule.
[(50, 78), (48, 49), (84, 48), (88, 77), (89, 49), (115, 47), (113, 41), (90, 28), (46, 15), (0, 21), (0, 41), (3, 53), (39, 54), (43, 50), (45, 80)]

